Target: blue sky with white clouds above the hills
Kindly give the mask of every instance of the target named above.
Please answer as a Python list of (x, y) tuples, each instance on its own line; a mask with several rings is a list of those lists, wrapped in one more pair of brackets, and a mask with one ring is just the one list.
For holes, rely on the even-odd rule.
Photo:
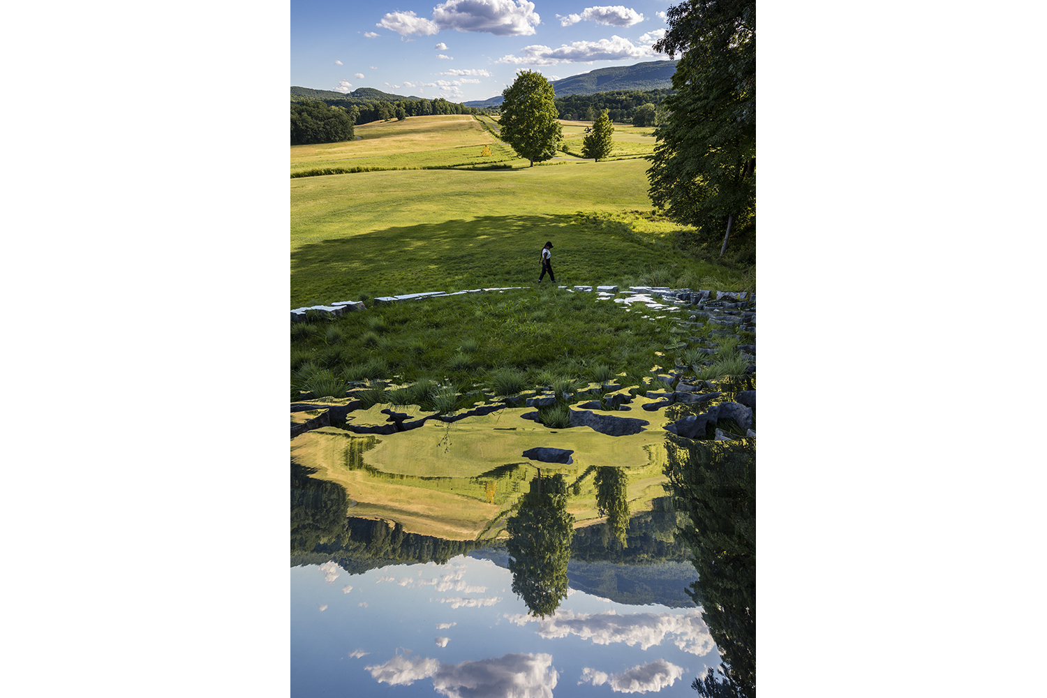
[(487, 99), (502, 94), (520, 70), (559, 80), (668, 60), (651, 45), (666, 29), (671, 4), (293, 0), (291, 85)]

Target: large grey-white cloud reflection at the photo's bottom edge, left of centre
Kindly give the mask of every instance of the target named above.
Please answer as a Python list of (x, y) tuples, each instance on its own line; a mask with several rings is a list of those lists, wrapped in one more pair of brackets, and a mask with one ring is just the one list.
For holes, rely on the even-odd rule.
[(432, 688), (448, 698), (515, 696), (552, 698), (559, 674), (550, 654), (507, 654), (480, 661), (444, 665), (436, 659), (395, 656), (384, 665), (365, 667), (375, 680), (410, 685), (432, 678)]

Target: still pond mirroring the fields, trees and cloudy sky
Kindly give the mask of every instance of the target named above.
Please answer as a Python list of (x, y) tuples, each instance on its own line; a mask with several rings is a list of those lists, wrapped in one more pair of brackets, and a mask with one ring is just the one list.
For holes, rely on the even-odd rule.
[[(547, 428), (526, 404), (455, 421), (379, 404), (294, 436), (291, 694), (695, 695), (726, 637), (688, 593), (705, 539), (680, 532), (699, 509), (728, 512), (716, 525), (750, 553), (721, 535), (715, 555), (744, 560), (728, 562), (755, 589), (755, 438), (733, 420), (674, 433), (753, 385), (710, 387), (703, 404), (575, 396), (592, 426)], [(712, 441), (717, 428), (735, 440)], [(716, 599), (755, 627), (755, 595)], [(751, 651), (755, 671), (747, 632), (731, 656)]]

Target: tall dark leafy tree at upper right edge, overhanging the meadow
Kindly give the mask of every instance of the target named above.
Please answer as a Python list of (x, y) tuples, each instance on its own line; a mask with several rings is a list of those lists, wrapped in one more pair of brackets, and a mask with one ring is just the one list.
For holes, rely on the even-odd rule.
[(658, 131), (650, 196), (703, 231), (754, 223), (756, 209), (756, 1), (688, 0), (666, 13), (654, 44), (681, 54)]

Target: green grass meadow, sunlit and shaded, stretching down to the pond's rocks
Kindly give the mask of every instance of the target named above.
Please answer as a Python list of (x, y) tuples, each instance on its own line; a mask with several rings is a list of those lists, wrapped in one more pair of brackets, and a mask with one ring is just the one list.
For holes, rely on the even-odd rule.
[[(586, 123), (565, 122), (565, 135)], [(316, 164), (335, 157), (406, 158), (417, 164), (455, 150), (508, 148), (488, 126), (471, 116), (369, 123), (357, 130), (361, 140), (295, 147), (291, 159)], [(649, 153), (650, 131), (616, 126), (616, 142), (621, 137)], [(673, 341), (669, 324), (592, 294), (558, 290), (549, 279), (537, 285), (538, 251), (548, 240), (554, 243), (557, 285), (755, 290), (751, 265), (722, 264), (681, 247), (688, 229), (651, 210), (645, 159), (594, 163), (565, 157), (534, 167), (517, 158), (498, 171), (386, 170), (291, 179), (291, 308), (340, 300), (367, 306), (362, 313), (292, 324), (292, 399), (298, 390), (343, 397), (360, 381), (375, 383), (372, 402), (393, 400), (383, 392), (391, 383), (401, 389), (418, 383), (425, 387), (415, 391), (414, 404), (430, 408), (438, 385), (449, 391), (451, 407), (461, 406), (455, 402), (477, 383), (497, 391), (499, 381), (511, 380), (520, 391), (527, 384), (584, 384), (600, 380), (598, 374), (619, 374), (642, 386), (653, 352)], [(400, 293), (485, 287), (525, 288), (372, 302)], [(708, 337), (712, 347), (723, 341), (710, 328), (692, 334)], [(709, 378), (736, 373), (735, 344), (709, 359)]]

